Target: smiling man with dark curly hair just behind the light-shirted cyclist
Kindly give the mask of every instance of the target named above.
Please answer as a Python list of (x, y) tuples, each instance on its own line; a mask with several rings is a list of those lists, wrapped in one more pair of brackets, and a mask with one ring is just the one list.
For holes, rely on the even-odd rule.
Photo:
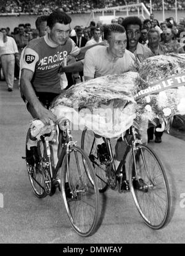
[(127, 48), (133, 53), (139, 62), (142, 62), (146, 58), (154, 56), (152, 51), (146, 46), (139, 43), (141, 37), (142, 22), (136, 16), (126, 17), (122, 23), (126, 29), (126, 35), (128, 38)]

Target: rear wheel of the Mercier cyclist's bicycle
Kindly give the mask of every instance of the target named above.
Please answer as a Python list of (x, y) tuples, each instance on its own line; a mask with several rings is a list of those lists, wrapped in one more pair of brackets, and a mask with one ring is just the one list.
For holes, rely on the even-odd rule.
[[(31, 188), (33, 190), (33, 193), (38, 197), (38, 198), (44, 198), (47, 196), (46, 190), (44, 188), (45, 183), (44, 183), (44, 177), (41, 172), (39, 172), (38, 169), (36, 169), (35, 165), (31, 165), (28, 163), (27, 159), (28, 157), (28, 151), (27, 151), (27, 141), (29, 138), (30, 130), (28, 130), (27, 133), (27, 139), (26, 139), (26, 162), (27, 162), (27, 172), (28, 172), (28, 177), (31, 183)], [(39, 156), (41, 154), (41, 141), (38, 141), (38, 147), (39, 147)], [(43, 147), (44, 150), (44, 147)], [(44, 152), (44, 151), (43, 151)]]

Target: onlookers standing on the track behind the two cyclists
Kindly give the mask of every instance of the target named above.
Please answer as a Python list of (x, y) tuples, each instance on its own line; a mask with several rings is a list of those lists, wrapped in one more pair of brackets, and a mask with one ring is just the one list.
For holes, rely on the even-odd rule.
[[(30, 24), (19, 24), (19, 26), (15, 27), (12, 32), (10, 32), (9, 27), (1, 28), (1, 32), (4, 34), (4, 37), (14, 38), (17, 45), (17, 50), (15, 52), (18, 52), (17, 56), (19, 57), (15, 58), (15, 79), (19, 79), (19, 60), (23, 48), (27, 46), (30, 40), (43, 36), (46, 33), (47, 17), (48, 15), (41, 15), (38, 17), (36, 20), (36, 29), (31, 28)], [(39, 20), (41, 21), (41, 27), (40, 24), (38, 24)], [(111, 23), (123, 25), (124, 18), (118, 17), (118, 19), (112, 19)], [(184, 45), (181, 40), (181, 32), (185, 31), (184, 18), (179, 19), (178, 24), (176, 24), (173, 17), (169, 17), (159, 24), (158, 20), (155, 19), (154, 14), (151, 14), (150, 19), (144, 20), (139, 29), (141, 31), (139, 32), (138, 42), (149, 48), (154, 55), (165, 54), (171, 51), (175, 53), (184, 53)], [(72, 29), (70, 37), (80, 48), (83, 46), (93, 45), (94, 43), (100, 43), (102, 42), (102, 39), (104, 39), (104, 24), (101, 22), (97, 22), (96, 24), (96, 22), (92, 20), (89, 27), (76, 25), (75, 28)], [(4, 38), (4, 40), (7, 40), (6, 38)], [(1, 51), (1, 55), (4, 55), (3, 51)], [(68, 66), (70, 67), (70, 64), (73, 62), (73, 60), (68, 61)], [(73, 65), (76, 65), (76, 63), (73, 63)], [(73, 71), (73, 66), (70, 70)], [(1, 78), (2, 77), (3, 74), (1, 72)], [(6, 74), (4, 74), (4, 77), (6, 77)], [(80, 77), (80, 81), (82, 81), (82, 70)], [(74, 84), (74, 79), (78, 78), (78, 76), (77, 78), (74, 76), (72, 77), (71, 74), (68, 74), (67, 72), (68, 87), (72, 86), (72, 84)]]

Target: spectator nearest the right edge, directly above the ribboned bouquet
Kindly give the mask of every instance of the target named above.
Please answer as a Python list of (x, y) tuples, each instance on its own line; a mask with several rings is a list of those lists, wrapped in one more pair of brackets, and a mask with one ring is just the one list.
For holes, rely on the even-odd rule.
[(163, 31), (163, 42), (162, 45), (166, 47), (167, 53), (184, 53), (184, 43), (179, 43), (174, 40), (173, 30), (168, 28)]

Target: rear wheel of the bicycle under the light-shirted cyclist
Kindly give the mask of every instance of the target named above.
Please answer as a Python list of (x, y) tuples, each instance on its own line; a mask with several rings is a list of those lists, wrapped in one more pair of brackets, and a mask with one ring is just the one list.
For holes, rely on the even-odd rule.
[(99, 187), (99, 192), (103, 193), (107, 190), (108, 183), (106, 177), (106, 166), (101, 164), (99, 158), (97, 157), (97, 144), (96, 138), (94, 137), (94, 132), (85, 128), (81, 135), (81, 148), (89, 156), (92, 162), (92, 167), (97, 176), (97, 183)]

